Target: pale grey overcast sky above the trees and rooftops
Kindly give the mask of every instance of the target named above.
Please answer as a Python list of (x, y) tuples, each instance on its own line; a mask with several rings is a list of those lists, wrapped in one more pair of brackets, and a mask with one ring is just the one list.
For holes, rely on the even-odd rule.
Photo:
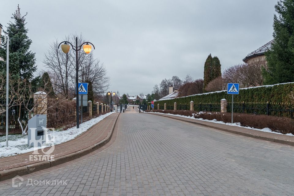
[(203, 78), (211, 53), (221, 68), (269, 42), (277, 0), (2, 1), (3, 28), (20, 4), (38, 71), (49, 43), (82, 33), (111, 77), (109, 90), (137, 95), (174, 75)]

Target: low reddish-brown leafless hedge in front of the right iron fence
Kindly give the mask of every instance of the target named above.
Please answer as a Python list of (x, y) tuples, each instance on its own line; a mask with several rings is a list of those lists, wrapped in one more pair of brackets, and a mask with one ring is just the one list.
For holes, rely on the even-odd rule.
[[(223, 121), (224, 123), (231, 123), (232, 120), (231, 113), (220, 114), (219, 112), (200, 113), (194, 115), (194, 117), (207, 120), (216, 119), (217, 121)], [(272, 131), (282, 134), (294, 134), (294, 120), (290, 118), (234, 113), (234, 122), (240, 123), (241, 126), (250, 126), (257, 129), (269, 128)]]

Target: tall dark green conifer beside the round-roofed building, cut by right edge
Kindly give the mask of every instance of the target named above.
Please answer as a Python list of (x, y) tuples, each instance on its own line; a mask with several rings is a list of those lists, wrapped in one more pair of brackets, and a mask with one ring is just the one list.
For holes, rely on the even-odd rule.
[(268, 69), (263, 70), (264, 84), (294, 81), (294, 4), (281, 0), (275, 5), (273, 41), (266, 52)]

